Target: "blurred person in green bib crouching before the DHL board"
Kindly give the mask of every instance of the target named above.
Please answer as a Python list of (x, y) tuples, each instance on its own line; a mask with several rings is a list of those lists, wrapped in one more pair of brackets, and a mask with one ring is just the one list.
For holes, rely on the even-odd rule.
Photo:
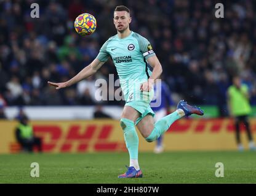
[(22, 151), (32, 153), (33, 147), (37, 146), (39, 152), (42, 152), (41, 138), (34, 136), (33, 127), (28, 124), (28, 117), (25, 115), (22, 115), (20, 118), (20, 123), (15, 130), (15, 136), (18, 143), (22, 146)]

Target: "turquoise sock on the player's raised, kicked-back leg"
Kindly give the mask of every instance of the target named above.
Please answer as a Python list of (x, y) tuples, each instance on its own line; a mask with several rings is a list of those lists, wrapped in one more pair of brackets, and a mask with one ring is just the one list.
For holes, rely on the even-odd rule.
[(162, 135), (169, 129), (170, 125), (174, 123), (174, 121), (177, 121), (177, 119), (180, 119), (183, 116), (185, 116), (184, 111), (178, 109), (170, 115), (164, 116), (164, 118), (159, 119), (159, 121), (154, 124), (154, 129), (152, 130), (151, 134), (145, 138), (146, 141), (152, 142), (154, 140), (157, 140), (160, 135)]

